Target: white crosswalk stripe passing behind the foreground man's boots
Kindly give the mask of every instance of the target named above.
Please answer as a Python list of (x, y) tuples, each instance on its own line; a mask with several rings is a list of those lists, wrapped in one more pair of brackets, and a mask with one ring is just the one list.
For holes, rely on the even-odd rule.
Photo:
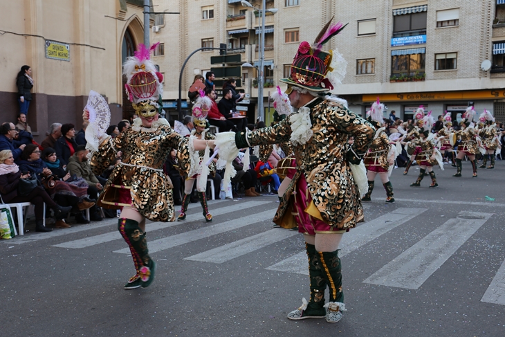
[[(356, 249), (361, 246), (364, 246), (377, 237), (380, 237), (380, 235), (389, 232), (389, 230), (392, 230), (401, 224), (405, 224), (407, 221), (421, 215), (426, 210), (426, 208), (397, 208), (386, 215), (382, 215), (351, 229), (349, 233), (345, 233), (342, 237), (342, 242), (340, 242), (340, 246), (338, 247), (340, 249), (338, 256), (342, 257), (352, 251), (356, 251)], [(305, 251), (288, 257), (277, 264), (273, 264), (267, 269), (270, 271), (285, 271), (288, 273), (309, 275), (307, 255)]]

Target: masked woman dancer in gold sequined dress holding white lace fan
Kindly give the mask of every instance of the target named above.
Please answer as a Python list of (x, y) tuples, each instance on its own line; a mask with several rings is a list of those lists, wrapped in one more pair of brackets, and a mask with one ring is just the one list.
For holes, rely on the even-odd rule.
[[(89, 120), (86, 128), (88, 148), (95, 151), (91, 167), (95, 174), (107, 169), (122, 153), (122, 161), (114, 167), (109, 180), (98, 199), (98, 206), (122, 209), (118, 230), (127, 242), (134, 259), (136, 273), (125, 284), (125, 289), (149, 286), (154, 280), (156, 263), (149, 256), (145, 233), (145, 219), (174, 221), (172, 185), (163, 172), (171, 147), (178, 149), (179, 164), (189, 172), (191, 151), (205, 149), (205, 141), (185, 138), (177, 134), (167, 120), (159, 118), (163, 75), (156, 72), (149, 60), (150, 49), (138, 46), (134, 57), (128, 57), (123, 65), (127, 77), (125, 85), (129, 100), (139, 118), (133, 125), (115, 138), (103, 133), (109, 122), (95, 119), (95, 111), (86, 106), (83, 119)], [(104, 102), (107, 107), (107, 103)], [(110, 120), (110, 114), (109, 114)], [(97, 126), (101, 133), (97, 133)], [(213, 146), (211, 143), (210, 146)]]

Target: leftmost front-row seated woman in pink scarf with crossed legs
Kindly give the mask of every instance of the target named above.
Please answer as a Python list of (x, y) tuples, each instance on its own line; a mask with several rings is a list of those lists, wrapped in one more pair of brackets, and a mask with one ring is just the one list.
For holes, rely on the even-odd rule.
[(30, 194), (20, 197), (17, 194), (19, 179), (27, 179), (29, 173), (21, 173), (19, 166), (14, 163), (14, 156), (10, 150), (0, 151), (0, 194), (5, 203), (30, 202), (35, 205), (35, 231), (50, 232), (52, 229), (44, 226), (44, 203), (53, 209), (56, 217), (64, 217), (71, 207), (60, 207), (49, 197), (42, 186), (37, 186)]

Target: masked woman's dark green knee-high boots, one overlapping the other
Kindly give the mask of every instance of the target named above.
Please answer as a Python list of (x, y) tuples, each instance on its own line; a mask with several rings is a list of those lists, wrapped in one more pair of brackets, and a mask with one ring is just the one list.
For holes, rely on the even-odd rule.
[(149, 256), (145, 232), (138, 226), (137, 221), (126, 218), (119, 219), (118, 230), (130, 248), (137, 271), (125, 284), (125, 289), (135, 289), (138, 286), (147, 288), (154, 280), (156, 263)]

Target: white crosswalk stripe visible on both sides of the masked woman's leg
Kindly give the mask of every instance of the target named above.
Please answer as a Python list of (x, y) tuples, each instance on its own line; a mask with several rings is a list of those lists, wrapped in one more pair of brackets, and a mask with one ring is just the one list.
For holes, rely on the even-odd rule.
[[(216, 208), (212, 210), (212, 215), (223, 215), (230, 212), (236, 212), (237, 210), (244, 210), (246, 208), (256, 207), (270, 203), (270, 201), (248, 201), (247, 203), (235, 203), (231, 206)], [(190, 205), (191, 208), (196, 208), (196, 206), (201, 207), (200, 204)], [(188, 209), (191, 209), (188, 208)], [(196, 221), (198, 219), (203, 219), (203, 215), (199, 212), (197, 214), (187, 215), (185, 221), (175, 221), (175, 222), (153, 222), (147, 224), (146, 231), (152, 232), (153, 230), (159, 230), (163, 228), (169, 228), (181, 224), (187, 224), (189, 221)], [(94, 235), (92, 237), (84, 237), (84, 239), (77, 239), (70, 242), (64, 242), (62, 244), (55, 244), (53, 247), (59, 248), (86, 248), (89, 246), (94, 246), (95, 244), (104, 244), (105, 242), (111, 242), (113, 240), (122, 239), (120, 233), (116, 230), (111, 233), (104, 233), (101, 235)]]

